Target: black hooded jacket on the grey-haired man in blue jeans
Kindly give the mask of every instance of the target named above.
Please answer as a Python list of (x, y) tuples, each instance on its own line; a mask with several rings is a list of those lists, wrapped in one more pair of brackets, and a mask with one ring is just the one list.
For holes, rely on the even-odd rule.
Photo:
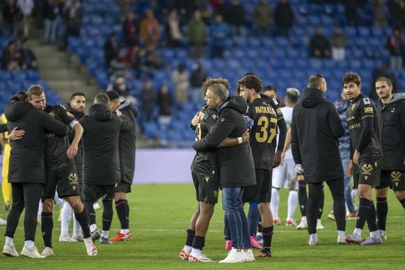
[[(196, 151), (212, 150), (225, 138), (242, 136), (246, 129), (244, 113), (248, 104), (237, 96), (228, 99), (219, 106), (216, 122), (207, 136), (194, 143)], [(216, 148), (219, 165), (219, 184), (221, 188), (237, 186), (253, 186), (256, 184), (255, 164), (251, 145), (241, 143), (227, 148)]]

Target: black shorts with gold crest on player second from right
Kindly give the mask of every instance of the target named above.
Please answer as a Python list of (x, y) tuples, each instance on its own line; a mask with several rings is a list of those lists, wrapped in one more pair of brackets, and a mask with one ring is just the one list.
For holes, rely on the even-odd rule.
[(360, 166), (353, 166), (354, 185), (368, 184), (369, 186), (379, 186), (383, 159), (376, 161), (361, 161)]

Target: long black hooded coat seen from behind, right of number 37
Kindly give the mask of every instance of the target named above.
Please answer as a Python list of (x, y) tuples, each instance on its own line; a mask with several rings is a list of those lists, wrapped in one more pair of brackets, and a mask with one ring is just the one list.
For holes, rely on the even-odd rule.
[(291, 149), (296, 164), (302, 164), (305, 181), (343, 179), (337, 138), (344, 128), (332, 102), (315, 88), (305, 88), (301, 102), (294, 106), (291, 123)]

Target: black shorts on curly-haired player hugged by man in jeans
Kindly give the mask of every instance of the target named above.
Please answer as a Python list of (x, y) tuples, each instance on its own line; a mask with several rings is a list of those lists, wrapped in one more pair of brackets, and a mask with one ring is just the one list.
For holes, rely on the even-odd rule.
[(218, 173), (211, 175), (198, 175), (191, 172), (194, 187), (196, 188), (196, 199), (199, 202), (216, 204), (218, 202), (219, 177)]

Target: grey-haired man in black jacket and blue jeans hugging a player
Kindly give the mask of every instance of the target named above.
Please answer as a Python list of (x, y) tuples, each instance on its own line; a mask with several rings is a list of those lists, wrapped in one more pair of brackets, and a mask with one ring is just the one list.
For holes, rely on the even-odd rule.
[[(227, 137), (238, 138), (238, 145), (216, 150), (219, 181), (223, 210), (230, 226), (232, 247), (251, 248), (248, 220), (241, 202), (243, 187), (256, 184), (251, 147), (248, 143), (242, 143), (240, 138), (247, 129), (243, 115), (247, 104), (241, 97), (228, 97), (228, 90), (223, 84), (210, 86), (205, 100), (209, 109), (217, 110), (216, 122), (207, 136), (194, 143), (193, 148), (196, 151), (207, 151), (218, 146)], [(248, 251), (249, 255), (253, 257), (251, 251)], [(243, 257), (243, 254), (232, 252), (221, 262), (239, 261), (239, 257)]]

